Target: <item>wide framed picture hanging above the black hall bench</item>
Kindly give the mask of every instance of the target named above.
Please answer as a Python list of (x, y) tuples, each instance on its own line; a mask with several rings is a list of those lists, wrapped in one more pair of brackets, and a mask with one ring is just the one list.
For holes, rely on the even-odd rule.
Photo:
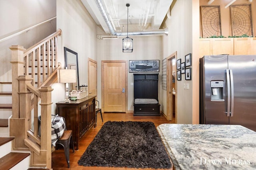
[(159, 60), (129, 60), (129, 72), (159, 72)]

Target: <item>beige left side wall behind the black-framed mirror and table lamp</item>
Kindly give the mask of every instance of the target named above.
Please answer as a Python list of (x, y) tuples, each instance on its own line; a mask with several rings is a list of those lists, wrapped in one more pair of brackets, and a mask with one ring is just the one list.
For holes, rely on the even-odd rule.
[[(57, 0), (57, 28), (62, 29), (58, 37), (58, 62), (64, 68), (64, 47), (78, 53), (80, 84), (88, 84), (88, 57), (96, 60), (97, 25), (80, 0)], [(64, 84), (55, 83), (52, 102), (64, 100)], [(53, 111), (56, 105), (53, 105)]]

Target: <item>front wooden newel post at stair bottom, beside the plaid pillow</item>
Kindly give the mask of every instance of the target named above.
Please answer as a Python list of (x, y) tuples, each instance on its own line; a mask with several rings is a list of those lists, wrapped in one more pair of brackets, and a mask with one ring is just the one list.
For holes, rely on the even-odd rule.
[(41, 92), (41, 155), (46, 156), (46, 168), (52, 167), (52, 87), (44, 86), (39, 89)]

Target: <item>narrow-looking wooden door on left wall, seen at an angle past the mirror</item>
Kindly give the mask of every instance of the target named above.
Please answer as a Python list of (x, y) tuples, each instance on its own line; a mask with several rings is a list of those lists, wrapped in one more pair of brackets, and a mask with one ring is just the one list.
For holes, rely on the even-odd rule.
[(97, 62), (88, 58), (88, 95), (97, 96)]

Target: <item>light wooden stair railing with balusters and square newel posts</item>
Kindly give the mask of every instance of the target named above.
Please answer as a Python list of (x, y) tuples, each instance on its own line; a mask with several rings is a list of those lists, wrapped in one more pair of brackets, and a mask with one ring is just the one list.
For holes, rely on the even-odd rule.
[[(10, 47), (12, 50), (10, 136), (15, 137), (14, 150), (31, 151), (30, 166), (51, 168), (53, 89), (49, 85), (56, 82), (56, 73), (61, 67), (57, 64), (59, 35), (61, 35), (60, 29), (28, 49), (19, 45)], [(37, 121), (39, 99), (41, 99), (41, 138), (38, 137)]]

